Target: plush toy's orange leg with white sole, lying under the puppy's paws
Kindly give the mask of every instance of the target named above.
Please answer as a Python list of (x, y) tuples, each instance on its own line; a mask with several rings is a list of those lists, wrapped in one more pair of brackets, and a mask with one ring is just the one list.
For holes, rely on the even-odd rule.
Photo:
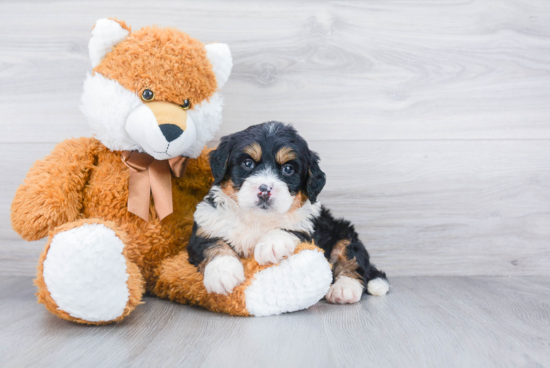
[(228, 295), (208, 294), (203, 276), (188, 262), (187, 252), (163, 262), (155, 292), (162, 298), (195, 304), (214, 312), (269, 316), (306, 309), (321, 300), (332, 283), (323, 252), (312, 244), (296, 247), (294, 255), (272, 266), (254, 258), (242, 260), (246, 280)]

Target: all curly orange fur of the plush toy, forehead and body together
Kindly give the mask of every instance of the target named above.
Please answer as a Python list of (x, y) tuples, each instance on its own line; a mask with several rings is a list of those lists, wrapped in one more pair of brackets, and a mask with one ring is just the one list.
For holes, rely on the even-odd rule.
[[(131, 32), (123, 21), (121, 27)], [(94, 69), (137, 94), (153, 90), (155, 100), (181, 104), (208, 99), (217, 90), (204, 45), (173, 28), (146, 27), (114, 47)], [(60, 318), (92, 323), (58, 309), (43, 277), (43, 262), (55, 234), (85, 223), (111, 228), (123, 241), (130, 297), (122, 320), (150, 291), (180, 303), (197, 304), (212, 311), (248, 315), (244, 291), (254, 275), (268, 267), (253, 258), (243, 260), (246, 280), (227, 296), (207, 294), (202, 274), (188, 262), (185, 250), (193, 227), (196, 205), (207, 194), (213, 178), (208, 150), (189, 160), (183, 178), (172, 178), (173, 213), (160, 221), (150, 203), (149, 221), (127, 210), (129, 169), (120, 152), (107, 149), (95, 138), (69, 139), (35, 163), (17, 189), (11, 206), (12, 227), (24, 239), (48, 235), (40, 257), (35, 284), (38, 301)], [(318, 249), (302, 244), (296, 252)]]

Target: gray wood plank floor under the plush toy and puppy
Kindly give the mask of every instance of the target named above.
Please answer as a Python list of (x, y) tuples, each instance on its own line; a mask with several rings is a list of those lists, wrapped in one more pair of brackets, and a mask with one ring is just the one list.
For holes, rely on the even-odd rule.
[(35, 303), (28, 277), (0, 278), (2, 367), (544, 367), (550, 278), (399, 277), (385, 297), (322, 301), (240, 318), (146, 297), (90, 327)]

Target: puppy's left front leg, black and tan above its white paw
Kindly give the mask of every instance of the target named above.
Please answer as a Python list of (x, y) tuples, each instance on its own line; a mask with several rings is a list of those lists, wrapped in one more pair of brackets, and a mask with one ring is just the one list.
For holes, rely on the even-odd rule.
[[(197, 232), (199, 234), (197, 234)], [(187, 247), (189, 262), (204, 275), (204, 287), (209, 293), (228, 294), (244, 280), (244, 268), (237, 253), (219, 238), (207, 238), (193, 227)]]

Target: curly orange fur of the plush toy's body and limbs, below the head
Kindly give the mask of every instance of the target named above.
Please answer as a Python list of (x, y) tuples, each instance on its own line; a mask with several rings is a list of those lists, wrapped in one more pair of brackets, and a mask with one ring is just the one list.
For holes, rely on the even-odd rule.
[[(185, 250), (195, 207), (213, 182), (208, 153), (205, 149), (199, 158), (189, 160), (183, 178), (172, 178), (174, 212), (159, 221), (151, 202), (148, 222), (127, 210), (129, 169), (120, 152), (110, 151), (94, 138), (79, 138), (59, 144), (50, 156), (38, 161), (17, 190), (11, 208), (12, 226), (22, 236), (39, 239), (48, 232), (50, 235), (35, 280), (38, 301), (63, 319), (89, 323), (57, 309), (42, 276), (43, 262), (58, 232), (83, 223), (102, 223), (113, 229), (125, 244), (130, 275), (130, 301), (117, 321), (140, 303), (144, 290), (215, 312), (249, 315), (244, 292), (254, 275), (269, 266), (260, 266), (253, 258), (244, 259), (243, 284), (229, 295), (207, 294), (203, 276), (189, 263)], [(296, 253), (305, 249), (318, 248), (304, 243), (296, 248)]]

